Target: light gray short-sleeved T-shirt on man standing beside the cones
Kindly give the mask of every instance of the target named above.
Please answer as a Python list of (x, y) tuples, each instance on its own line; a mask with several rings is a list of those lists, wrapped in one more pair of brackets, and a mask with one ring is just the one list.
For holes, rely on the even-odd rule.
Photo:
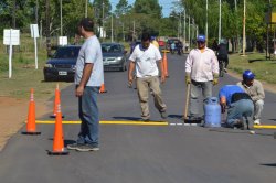
[(85, 63), (93, 63), (93, 71), (86, 86), (104, 84), (104, 66), (102, 46), (96, 35), (93, 35), (82, 45), (76, 61), (75, 84), (81, 83)]

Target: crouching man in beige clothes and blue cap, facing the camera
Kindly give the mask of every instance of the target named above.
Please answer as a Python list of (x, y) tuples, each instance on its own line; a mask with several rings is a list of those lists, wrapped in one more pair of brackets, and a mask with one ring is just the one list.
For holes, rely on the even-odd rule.
[(254, 125), (261, 125), (261, 114), (264, 109), (265, 92), (261, 82), (254, 78), (255, 75), (247, 69), (243, 73), (243, 80), (238, 82), (237, 85), (251, 96), (254, 104)]

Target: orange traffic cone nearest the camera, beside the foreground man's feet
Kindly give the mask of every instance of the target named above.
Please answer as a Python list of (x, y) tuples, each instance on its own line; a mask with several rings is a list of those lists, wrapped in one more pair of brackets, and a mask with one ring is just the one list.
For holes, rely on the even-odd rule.
[(57, 104), (57, 110), (56, 110), (56, 117), (55, 117), (53, 151), (49, 151), (47, 153), (50, 155), (67, 155), (68, 154), (67, 149), (64, 148), (61, 104)]

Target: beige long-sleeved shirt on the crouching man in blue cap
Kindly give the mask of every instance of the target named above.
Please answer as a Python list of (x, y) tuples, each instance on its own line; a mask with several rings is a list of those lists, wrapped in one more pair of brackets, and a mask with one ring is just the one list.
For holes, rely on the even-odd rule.
[(247, 86), (243, 82), (238, 82), (236, 85), (242, 87), (244, 92), (246, 92), (251, 96), (253, 101), (257, 101), (259, 99), (265, 98), (265, 92), (264, 92), (263, 85), (261, 82), (256, 79), (254, 79), (252, 86)]

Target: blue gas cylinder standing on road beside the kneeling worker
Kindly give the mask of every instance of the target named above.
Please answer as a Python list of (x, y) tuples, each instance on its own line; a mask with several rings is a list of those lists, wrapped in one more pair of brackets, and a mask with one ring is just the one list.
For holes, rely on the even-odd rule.
[(204, 100), (204, 127), (221, 127), (221, 105), (216, 97)]

